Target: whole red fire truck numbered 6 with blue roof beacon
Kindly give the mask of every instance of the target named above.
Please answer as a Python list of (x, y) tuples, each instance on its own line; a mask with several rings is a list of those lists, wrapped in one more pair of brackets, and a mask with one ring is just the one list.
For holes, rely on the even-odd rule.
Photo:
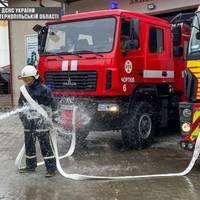
[(114, 9), (65, 15), (34, 30), (38, 69), (60, 102), (63, 126), (69, 104), (90, 117), (77, 130), (79, 142), (92, 130), (121, 130), (126, 147), (141, 149), (179, 118), (186, 25)]

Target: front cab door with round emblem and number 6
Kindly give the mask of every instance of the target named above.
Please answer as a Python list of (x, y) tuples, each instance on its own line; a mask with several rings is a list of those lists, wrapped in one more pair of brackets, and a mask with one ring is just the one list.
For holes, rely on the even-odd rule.
[(122, 18), (120, 34), (120, 83), (121, 93), (130, 95), (144, 64), (143, 38), (139, 19)]

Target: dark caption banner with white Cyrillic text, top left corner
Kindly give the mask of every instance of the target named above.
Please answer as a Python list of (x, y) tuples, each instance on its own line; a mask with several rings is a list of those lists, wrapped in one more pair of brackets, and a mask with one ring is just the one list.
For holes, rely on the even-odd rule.
[(59, 20), (60, 7), (2, 7), (0, 20)]

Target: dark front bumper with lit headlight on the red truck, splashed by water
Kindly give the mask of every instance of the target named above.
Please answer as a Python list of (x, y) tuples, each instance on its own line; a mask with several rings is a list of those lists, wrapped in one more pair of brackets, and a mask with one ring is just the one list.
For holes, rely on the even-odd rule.
[(121, 129), (122, 118), (128, 111), (129, 102), (128, 97), (57, 97), (57, 99), (61, 115), (64, 116), (63, 113), (65, 113), (64, 121), (70, 121), (72, 115), (69, 114), (68, 108), (70, 105), (75, 105), (77, 106), (77, 120), (80, 122), (81, 118), (83, 121), (89, 118), (89, 123), (85, 126), (95, 131)]

